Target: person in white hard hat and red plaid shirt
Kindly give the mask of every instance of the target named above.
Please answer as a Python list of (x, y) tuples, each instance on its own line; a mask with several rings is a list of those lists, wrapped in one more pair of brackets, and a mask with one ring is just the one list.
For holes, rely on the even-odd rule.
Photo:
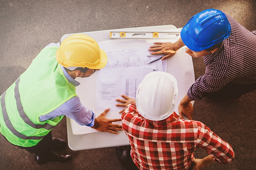
[[(234, 159), (232, 146), (206, 125), (184, 120), (174, 112), (177, 81), (171, 74), (151, 72), (140, 83), (136, 100), (122, 95), (116, 106), (125, 106), (122, 127), (131, 149), (116, 147), (128, 170), (201, 170), (212, 163), (227, 164)], [(194, 151), (209, 153), (195, 159)]]

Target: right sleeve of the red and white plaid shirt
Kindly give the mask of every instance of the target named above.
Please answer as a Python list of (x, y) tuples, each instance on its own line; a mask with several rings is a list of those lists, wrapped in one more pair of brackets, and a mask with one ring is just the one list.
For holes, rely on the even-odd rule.
[(232, 146), (222, 140), (209, 127), (201, 122), (198, 123), (198, 140), (196, 147), (201, 148), (213, 157), (217, 163), (227, 164), (235, 158)]

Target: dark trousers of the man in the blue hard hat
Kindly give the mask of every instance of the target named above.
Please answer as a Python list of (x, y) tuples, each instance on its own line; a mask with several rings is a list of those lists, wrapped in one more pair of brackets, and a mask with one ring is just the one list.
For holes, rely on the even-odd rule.
[(239, 99), (243, 94), (256, 90), (256, 83), (249, 85), (241, 85), (233, 82), (228, 83), (219, 91), (205, 92), (203, 97), (214, 100), (216, 102), (223, 102), (230, 99)]

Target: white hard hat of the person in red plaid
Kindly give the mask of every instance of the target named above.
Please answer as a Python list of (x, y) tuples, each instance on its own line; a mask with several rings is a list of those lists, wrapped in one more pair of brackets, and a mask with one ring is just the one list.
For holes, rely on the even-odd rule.
[(160, 121), (168, 118), (177, 102), (178, 86), (174, 76), (163, 71), (147, 74), (136, 94), (136, 106), (141, 116)]

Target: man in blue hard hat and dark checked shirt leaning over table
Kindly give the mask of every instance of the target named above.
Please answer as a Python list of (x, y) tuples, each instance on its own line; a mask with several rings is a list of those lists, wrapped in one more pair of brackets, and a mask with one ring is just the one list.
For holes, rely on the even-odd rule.
[[(239, 100), (256, 90), (256, 31), (248, 31), (229, 15), (207, 9), (194, 15), (175, 42), (154, 42), (151, 54), (172, 57), (183, 46), (192, 57), (204, 58), (205, 74), (191, 85), (180, 101), (178, 111), (193, 117), (191, 101), (203, 97), (213, 101)], [(162, 60), (163, 60), (162, 59)]]

